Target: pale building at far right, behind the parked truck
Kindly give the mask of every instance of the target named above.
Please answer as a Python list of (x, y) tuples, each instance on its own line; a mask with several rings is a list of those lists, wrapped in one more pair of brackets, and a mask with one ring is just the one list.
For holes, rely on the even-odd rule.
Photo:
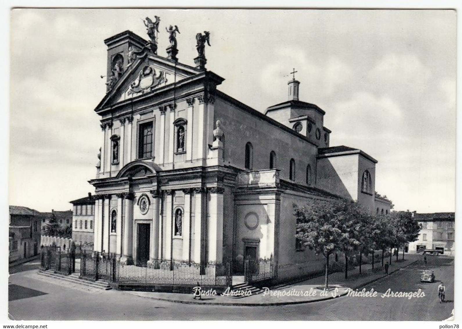
[(419, 239), (409, 243), (409, 251), (420, 247), (443, 250), (445, 255), (454, 255), (455, 213), (413, 213), (413, 218), (422, 225)]

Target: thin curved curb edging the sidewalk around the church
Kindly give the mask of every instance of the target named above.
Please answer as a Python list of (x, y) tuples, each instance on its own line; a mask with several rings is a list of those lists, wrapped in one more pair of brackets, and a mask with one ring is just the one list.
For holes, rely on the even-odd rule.
[[(416, 262), (419, 262), (419, 260), (415, 260), (413, 262), (410, 262), (406, 266), (403, 266), (402, 268), (407, 268), (409, 265), (412, 265)], [(377, 280), (380, 280), (384, 277), (387, 277), (397, 271), (399, 271), (401, 268), (396, 268), (395, 270), (391, 271), (389, 274), (383, 275), (381, 277), (378, 277), (376, 279), (367, 281), (365, 283), (360, 284), (359, 286), (354, 286), (351, 288), (352, 290), (362, 288), (363, 286), (366, 286), (372, 282), (376, 282)], [(329, 300), (329, 299), (337, 299), (339, 297), (345, 296), (348, 292), (343, 292), (339, 294), (336, 297), (326, 297), (322, 299), (312, 299), (312, 300), (299, 300), (299, 301), (293, 301), (293, 302), (276, 302), (276, 303), (223, 303), (223, 302), (201, 302), (201, 301), (195, 301), (195, 300), (178, 300), (178, 299), (166, 299), (166, 298), (160, 298), (160, 297), (148, 297), (148, 296), (141, 296), (137, 294), (132, 294), (141, 298), (147, 298), (147, 299), (154, 299), (154, 300), (160, 300), (164, 302), (170, 302), (170, 303), (179, 303), (179, 304), (189, 304), (189, 305), (220, 305), (220, 306), (278, 306), (278, 305), (296, 305), (296, 304), (308, 304), (308, 303), (314, 303), (314, 302), (322, 302), (324, 300)]]

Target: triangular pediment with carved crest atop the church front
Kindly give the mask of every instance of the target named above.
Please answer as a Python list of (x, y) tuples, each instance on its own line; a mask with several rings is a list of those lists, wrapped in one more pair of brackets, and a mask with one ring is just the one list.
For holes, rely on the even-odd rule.
[(172, 85), (182, 79), (201, 73), (200, 70), (157, 55), (144, 55), (125, 68), (96, 110), (156, 89)]

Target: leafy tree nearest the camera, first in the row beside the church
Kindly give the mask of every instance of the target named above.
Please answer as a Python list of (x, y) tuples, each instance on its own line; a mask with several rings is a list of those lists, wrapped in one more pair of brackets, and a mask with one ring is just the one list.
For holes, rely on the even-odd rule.
[(326, 258), (324, 282), (328, 288), (329, 256), (339, 251), (342, 239), (341, 201), (313, 200), (308, 207), (294, 207), (296, 235), (300, 243)]

